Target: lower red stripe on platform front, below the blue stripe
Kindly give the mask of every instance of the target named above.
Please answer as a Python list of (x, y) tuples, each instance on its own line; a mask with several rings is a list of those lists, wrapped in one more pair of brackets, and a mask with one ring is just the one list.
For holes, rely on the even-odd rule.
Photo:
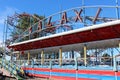
[[(42, 74), (28, 74), (28, 75), (32, 75), (35, 77), (39, 77), (39, 78), (48, 78), (48, 79), (57, 79), (57, 80), (76, 80), (75, 77), (63, 77), (63, 76), (49, 76), (49, 75), (42, 75)], [(77, 80), (97, 80), (97, 79), (89, 79), (89, 78), (78, 78)]]

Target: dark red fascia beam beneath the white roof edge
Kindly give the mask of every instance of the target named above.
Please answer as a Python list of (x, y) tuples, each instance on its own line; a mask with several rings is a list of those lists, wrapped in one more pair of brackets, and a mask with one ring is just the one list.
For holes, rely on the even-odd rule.
[(109, 26), (12, 46), (17, 51), (120, 38), (120, 26)]

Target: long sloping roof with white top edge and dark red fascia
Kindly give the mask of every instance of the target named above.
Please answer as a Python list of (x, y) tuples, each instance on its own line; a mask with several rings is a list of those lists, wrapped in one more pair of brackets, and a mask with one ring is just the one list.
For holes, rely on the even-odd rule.
[[(23, 51), (23, 50), (32, 50), (32, 49), (42, 49), (48, 47), (49, 48), (57, 47), (57, 46), (60, 47), (65, 45), (88, 43), (94, 41), (96, 43), (96, 41), (103, 42), (103, 40), (107, 40), (109, 42), (109, 40), (114, 40), (114, 39), (115, 40), (117, 39), (116, 44), (118, 44), (120, 40), (119, 31), (120, 31), (120, 20), (116, 20), (116, 21), (97, 24), (76, 30), (71, 30), (68, 32), (62, 32), (50, 36), (31, 39), (28, 41), (13, 43), (9, 45), (9, 47), (13, 48), (16, 51)], [(113, 45), (113, 43), (109, 43), (109, 44)], [(117, 46), (116, 44), (113, 46)], [(98, 43), (96, 43), (96, 45), (98, 45)]]

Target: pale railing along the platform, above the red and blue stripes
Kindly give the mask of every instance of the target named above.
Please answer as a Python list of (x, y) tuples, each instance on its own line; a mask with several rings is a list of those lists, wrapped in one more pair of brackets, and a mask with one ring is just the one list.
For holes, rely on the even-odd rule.
[[(116, 63), (117, 70), (120, 69), (120, 64), (118, 61), (114, 61), (112, 57), (88, 57), (84, 58), (75, 58), (75, 59), (62, 59), (60, 62), (59, 59), (30, 59), (28, 60), (17, 60), (14, 63), (21, 65), (22, 67), (42, 67), (42, 68), (65, 68), (65, 69), (107, 69), (114, 70)], [(60, 63), (62, 63), (60, 65)]]

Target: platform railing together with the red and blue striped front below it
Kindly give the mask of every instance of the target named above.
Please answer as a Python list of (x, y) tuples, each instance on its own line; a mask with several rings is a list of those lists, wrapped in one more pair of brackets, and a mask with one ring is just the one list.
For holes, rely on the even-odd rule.
[[(84, 71), (86, 74), (85, 76), (87, 78), (91, 78), (90, 76), (93, 75), (91, 73), (88, 73), (88, 71), (92, 72), (95, 71), (96, 75), (99, 75), (100, 77), (97, 77), (96, 79), (104, 79), (103, 76), (105, 76), (107, 79), (111, 79), (111, 75), (103, 75), (104, 73), (104, 70), (105, 72), (108, 70), (114, 70), (115, 71), (115, 75), (112, 76), (112, 80), (114, 80), (116, 77), (118, 77), (118, 79), (115, 79), (115, 80), (119, 80), (119, 76), (117, 75), (117, 69), (115, 68), (115, 63), (117, 63), (117, 61), (115, 60), (116, 57), (101, 57), (101, 61), (99, 60), (95, 60), (93, 59), (92, 61), (94, 62), (90, 62), (90, 57), (87, 58), (87, 66), (85, 66), (84, 64), (84, 58), (75, 58), (75, 59), (62, 59), (62, 65), (59, 65), (60, 61), (59, 59), (44, 59), (44, 60), (41, 60), (41, 59), (31, 59), (31, 60), (17, 60), (16, 63), (20, 63), (20, 64), (25, 64), (27, 63), (27, 65), (23, 65), (23, 69), (26, 71), (26, 74), (30, 75), (30, 76), (36, 76), (36, 74), (40, 74), (40, 75), (48, 75), (47, 78), (51, 78), (52, 76), (56, 76), (57, 74), (64, 74), (66, 71), (68, 70), (68, 72), (66, 73), (66, 75), (70, 74), (73, 74), (71, 72), (69, 72), (69, 70), (72, 70), (72, 71), (76, 71), (76, 76), (74, 76), (75, 78), (80, 78), (78, 77), (78, 75), (83, 75), (83, 73), (81, 74), (80, 72), (78, 73), (78, 71)], [(113, 60), (113, 61), (112, 61)], [(95, 62), (98, 62), (98, 63), (95, 63)], [(25, 62), (25, 63), (24, 63)], [(109, 64), (106, 62), (110, 62)], [(111, 63), (113, 65), (111, 65)], [(117, 66), (116, 66), (117, 67)], [(55, 72), (54, 70), (56, 70), (58, 72)], [(62, 70), (59, 72), (59, 69), (63, 69), (63, 72)], [(100, 70), (100, 71), (98, 71)], [(113, 73), (114, 73), (113, 71)], [(99, 74), (98, 74), (99, 73)], [(101, 74), (100, 74), (101, 73)], [(95, 75), (94, 74), (94, 75)], [(93, 76), (94, 76), (93, 75)], [(64, 75), (65, 76), (65, 75)], [(93, 78), (92, 76), (92, 78)], [(44, 76), (43, 76), (44, 77)], [(82, 76), (83, 77), (83, 76)], [(114, 78), (115, 77), (115, 78)], [(77, 79), (76, 79), (77, 80)]]

